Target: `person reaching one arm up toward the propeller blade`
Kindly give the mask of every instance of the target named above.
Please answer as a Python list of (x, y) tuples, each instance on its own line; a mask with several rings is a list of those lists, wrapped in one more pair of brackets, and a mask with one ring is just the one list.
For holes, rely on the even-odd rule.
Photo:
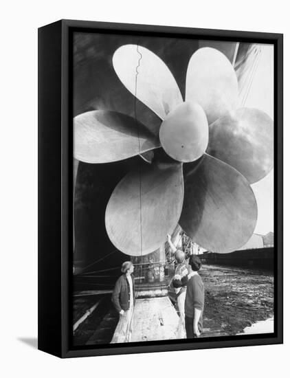
[(179, 339), (186, 338), (186, 322), (184, 313), (184, 302), (186, 300), (186, 284), (188, 282), (188, 266), (186, 265), (186, 255), (181, 249), (176, 249), (171, 241), (171, 236), (167, 235), (167, 241), (175, 254), (177, 266), (175, 267), (175, 276), (172, 279), (172, 286), (175, 289), (175, 296), (179, 311), (179, 324), (177, 329), (177, 337)]

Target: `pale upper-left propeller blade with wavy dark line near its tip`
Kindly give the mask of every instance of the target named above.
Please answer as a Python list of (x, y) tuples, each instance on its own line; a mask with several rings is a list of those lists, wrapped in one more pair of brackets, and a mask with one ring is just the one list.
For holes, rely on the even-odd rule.
[(113, 67), (126, 89), (162, 120), (183, 101), (170, 69), (145, 47), (119, 47), (113, 55)]

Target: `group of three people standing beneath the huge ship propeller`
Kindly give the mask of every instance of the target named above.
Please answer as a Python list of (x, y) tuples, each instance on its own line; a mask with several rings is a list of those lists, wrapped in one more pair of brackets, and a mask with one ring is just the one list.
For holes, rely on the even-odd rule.
[[(198, 271), (201, 260), (197, 255), (190, 255), (188, 261), (183, 251), (173, 245), (170, 235), (168, 243), (175, 253), (175, 276), (170, 285), (175, 290), (179, 309), (179, 325), (177, 338), (199, 337), (202, 332), (204, 288)], [(113, 290), (112, 302), (122, 317), (122, 336), (124, 342), (129, 342), (131, 318), (135, 305), (135, 284), (133, 278), (134, 266), (131, 261), (122, 264), (122, 276), (118, 278)], [(121, 318), (120, 318), (121, 319)]]

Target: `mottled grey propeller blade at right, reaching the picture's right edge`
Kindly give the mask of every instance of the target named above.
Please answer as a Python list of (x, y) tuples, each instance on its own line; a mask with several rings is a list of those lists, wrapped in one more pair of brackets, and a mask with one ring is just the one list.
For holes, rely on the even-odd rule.
[(210, 125), (207, 153), (230, 164), (250, 184), (274, 165), (273, 120), (258, 109), (241, 108)]

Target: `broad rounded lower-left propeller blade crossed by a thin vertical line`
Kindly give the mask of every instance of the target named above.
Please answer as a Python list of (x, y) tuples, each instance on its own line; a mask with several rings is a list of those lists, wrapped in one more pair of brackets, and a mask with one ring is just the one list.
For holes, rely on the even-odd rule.
[(175, 230), (182, 202), (181, 164), (164, 169), (142, 164), (113, 191), (105, 215), (107, 234), (124, 254), (144, 256)]

